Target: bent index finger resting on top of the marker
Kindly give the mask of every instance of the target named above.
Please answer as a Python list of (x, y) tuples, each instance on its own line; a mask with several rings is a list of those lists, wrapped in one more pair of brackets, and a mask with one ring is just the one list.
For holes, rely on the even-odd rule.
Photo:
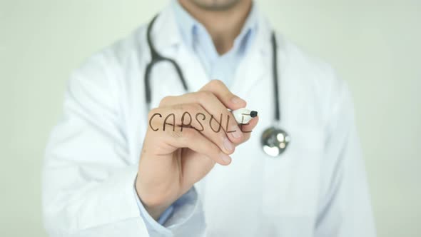
[(199, 91), (210, 91), (212, 92), (219, 101), (228, 109), (235, 110), (244, 108), (247, 104), (245, 100), (238, 96), (235, 96), (222, 81), (212, 80)]

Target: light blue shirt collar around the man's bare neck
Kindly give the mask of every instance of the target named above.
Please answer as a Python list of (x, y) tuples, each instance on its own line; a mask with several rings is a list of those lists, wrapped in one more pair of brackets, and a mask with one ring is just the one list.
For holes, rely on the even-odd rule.
[[(171, 2), (171, 8), (173, 9), (178, 29), (180, 30), (181, 37), (184, 43), (193, 49), (195, 41), (198, 39), (198, 34), (208, 34), (206, 28), (193, 18), (188, 11), (181, 6), (177, 0)], [(240, 34), (234, 40), (233, 49), (238, 51), (244, 51), (245, 48), (250, 44), (251, 38), (256, 34), (258, 28), (258, 10), (253, 2), (250, 9), (250, 13), (245, 20), (245, 24), (240, 31)]]

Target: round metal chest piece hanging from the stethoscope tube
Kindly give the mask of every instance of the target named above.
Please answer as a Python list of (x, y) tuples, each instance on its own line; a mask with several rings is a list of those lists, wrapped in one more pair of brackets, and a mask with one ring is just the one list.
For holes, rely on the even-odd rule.
[(272, 126), (263, 131), (260, 142), (265, 153), (269, 156), (278, 157), (288, 147), (290, 136), (286, 131)]

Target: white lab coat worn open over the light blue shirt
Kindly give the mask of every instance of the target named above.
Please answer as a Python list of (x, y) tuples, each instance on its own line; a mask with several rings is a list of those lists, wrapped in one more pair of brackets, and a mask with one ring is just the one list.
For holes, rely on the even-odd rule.
[[(238, 146), (230, 166), (216, 165), (196, 183), (192, 213), (171, 231), (176, 236), (375, 236), (347, 86), (330, 66), (279, 34), (280, 126), (291, 142), (279, 158), (263, 152), (260, 135), (274, 117), (270, 31), (259, 16), (253, 46), (230, 88), (258, 111), (258, 126)], [(142, 26), (71, 76), (64, 116), (46, 148), (43, 210), (51, 236), (148, 236), (133, 195), (148, 126), (145, 35)], [(178, 61), (191, 91), (210, 80), (183, 45), (171, 9), (158, 17), (153, 42)], [(185, 93), (166, 63), (153, 70), (152, 91), (152, 106), (164, 96)]]

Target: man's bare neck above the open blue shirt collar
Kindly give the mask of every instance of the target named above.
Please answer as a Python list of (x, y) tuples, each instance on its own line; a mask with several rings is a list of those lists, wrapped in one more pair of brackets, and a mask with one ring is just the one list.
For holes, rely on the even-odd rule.
[(245, 19), (250, 12), (252, 1), (238, 1), (229, 9), (212, 11), (201, 8), (191, 0), (178, 0), (186, 11), (199, 21), (210, 34), (218, 54), (225, 54), (240, 34)]

